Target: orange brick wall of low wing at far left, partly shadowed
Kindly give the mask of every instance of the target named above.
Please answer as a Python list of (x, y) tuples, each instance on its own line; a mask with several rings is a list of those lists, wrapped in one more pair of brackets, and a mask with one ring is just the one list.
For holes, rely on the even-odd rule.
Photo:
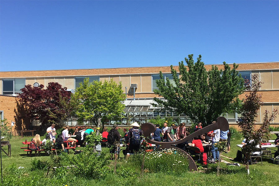
[(29, 130), (30, 121), (23, 118), (24, 113), (21, 108), (18, 109), (16, 99), (14, 96), (0, 95), (0, 110), (3, 111), (4, 117), (7, 118), (8, 126), (11, 126), (11, 121), (15, 122), (15, 126), (12, 126), (12, 131)]

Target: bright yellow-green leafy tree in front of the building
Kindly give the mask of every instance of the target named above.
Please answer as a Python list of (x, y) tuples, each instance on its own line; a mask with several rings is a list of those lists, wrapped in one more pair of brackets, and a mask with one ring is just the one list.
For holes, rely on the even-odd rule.
[(75, 105), (77, 116), (83, 119), (93, 119), (99, 132), (101, 122), (107, 119), (116, 119), (123, 113), (125, 105), (125, 94), (122, 91), (121, 82), (119, 85), (111, 79), (110, 81), (89, 82), (89, 78), (84, 78), (83, 84), (76, 89), (72, 95), (72, 105)]

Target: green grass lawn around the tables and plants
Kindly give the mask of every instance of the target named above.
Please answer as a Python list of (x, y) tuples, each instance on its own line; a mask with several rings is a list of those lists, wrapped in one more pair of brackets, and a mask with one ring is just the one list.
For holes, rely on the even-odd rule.
[[(275, 139), (275, 135), (271, 139)], [(198, 172), (189, 172), (188, 170), (180, 172), (179, 174), (174, 173), (148, 173), (145, 171), (143, 178), (139, 178), (140, 167), (135, 166), (133, 162), (133, 156), (130, 157), (129, 161), (126, 163), (124, 156), (121, 152), (120, 159), (117, 160), (117, 174), (114, 175), (113, 171), (110, 172), (103, 179), (85, 179), (76, 177), (73, 175), (66, 175), (63, 178), (49, 177), (46, 175), (46, 170), (35, 170), (31, 171), (31, 162), (34, 159), (45, 161), (50, 157), (46, 156), (45, 153), (41, 153), (40, 156), (32, 157), (27, 156), (26, 152), (20, 147), (24, 147), (21, 143), (27, 139), (31, 140), (31, 137), (13, 137), (10, 141), (11, 143), (11, 158), (7, 157), (6, 154), (2, 153), (2, 166), (3, 166), (3, 180), (2, 185), (63, 185), (68, 186), (79, 186), (79, 185), (237, 185), (237, 186), (258, 186), (258, 185), (277, 185), (279, 181), (278, 177), (278, 165), (274, 165), (269, 158), (263, 157), (263, 166), (260, 164), (249, 165), (250, 175), (247, 175), (247, 170), (244, 165), (241, 167), (237, 166), (227, 166), (221, 163), (220, 175), (216, 175), (216, 164), (208, 164), (207, 166), (199, 167)], [(231, 138), (231, 151), (228, 154), (222, 153), (222, 155), (235, 158), (237, 150), (240, 150), (236, 144), (240, 144), (241, 138)], [(3, 147), (7, 150), (7, 147)], [(82, 149), (82, 148), (79, 148)], [(273, 151), (274, 152), (274, 151)], [(74, 156), (73, 151), (70, 151), (68, 156)], [(273, 156), (273, 155), (272, 155)], [(225, 161), (234, 162), (226, 157), (223, 157)], [(24, 167), (24, 169), (17, 169), (16, 176), (7, 176), (7, 168), (9, 165), (15, 164), (16, 168), (19, 166)], [(164, 162), (162, 161), (162, 164)], [(113, 168), (113, 161), (111, 161), (110, 166)], [(17, 176), (18, 174), (18, 176)], [(12, 180), (14, 179), (14, 180)], [(16, 184), (15, 184), (16, 183)], [(20, 184), (19, 184), (20, 183)]]

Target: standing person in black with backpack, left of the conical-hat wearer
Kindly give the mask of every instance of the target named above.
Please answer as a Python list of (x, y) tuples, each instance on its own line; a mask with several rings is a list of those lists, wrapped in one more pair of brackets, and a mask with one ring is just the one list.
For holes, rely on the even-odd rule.
[(109, 151), (111, 153), (111, 159), (112, 159), (113, 153), (114, 153), (114, 158), (117, 159), (117, 155), (120, 152), (120, 147), (117, 147), (116, 145), (114, 145), (114, 143), (116, 141), (120, 141), (120, 138), (121, 138), (121, 135), (117, 131), (118, 128), (119, 128), (118, 125), (114, 124), (113, 129), (111, 129), (108, 132), (108, 144), (109, 144), (109, 147), (111, 148), (111, 150)]

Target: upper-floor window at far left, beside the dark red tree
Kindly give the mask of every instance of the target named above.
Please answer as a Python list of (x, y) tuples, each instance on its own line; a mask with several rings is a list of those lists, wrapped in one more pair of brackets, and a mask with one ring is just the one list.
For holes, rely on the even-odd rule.
[(25, 79), (3, 79), (2, 82), (4, 95), (22, 93), (20, 89), (25, 86)]

